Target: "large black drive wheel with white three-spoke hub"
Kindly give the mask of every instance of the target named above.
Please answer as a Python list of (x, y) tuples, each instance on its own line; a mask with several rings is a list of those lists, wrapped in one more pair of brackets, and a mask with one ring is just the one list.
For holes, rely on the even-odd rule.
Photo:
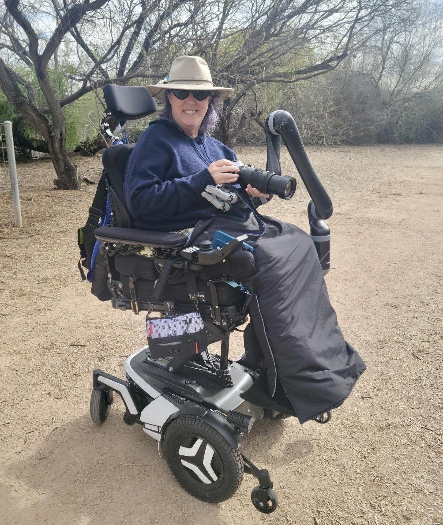
[(163, 440), (167, 464), (180, 485), (203, 501), (233, 496), (243, 478), (240, 446), (233, 449), (215, 428), (191, 416), (178, 417)]

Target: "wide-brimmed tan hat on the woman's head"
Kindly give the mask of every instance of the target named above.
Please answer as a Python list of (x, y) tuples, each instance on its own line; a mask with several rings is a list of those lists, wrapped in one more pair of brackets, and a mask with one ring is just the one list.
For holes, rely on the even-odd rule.
[(214, 86), (209, 67), (203, 58), (187, 55), (178, 57), (172, 62), (165, 80), (158, 84), (150, 84), (146, 89), (159, 100), (164, 100), (168, 89), (214, 91), (223, 98), (229, 98), (234, 93), (232, 88)]

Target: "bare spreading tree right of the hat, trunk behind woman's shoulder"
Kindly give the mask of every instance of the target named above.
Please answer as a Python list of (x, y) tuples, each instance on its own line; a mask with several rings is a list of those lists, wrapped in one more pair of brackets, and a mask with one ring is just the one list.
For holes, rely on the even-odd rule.
[(235, 144), (248, 122), (259, 120), (257, 89), (331, 71), (381, 30), (375, 19), (395, 16), (407, 1), (225, 0), (215, 24), (199, 24), (196, 33), (206, 30), (192, 48), (208, 60), (217, 79), (236, 89), (223, 105), (220, 140)]

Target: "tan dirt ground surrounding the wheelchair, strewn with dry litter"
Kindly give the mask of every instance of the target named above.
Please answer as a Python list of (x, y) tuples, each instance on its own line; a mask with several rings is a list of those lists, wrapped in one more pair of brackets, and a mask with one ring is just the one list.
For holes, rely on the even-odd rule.
[[(265, 166), (262, 148), (238, 153)], [(261, 421), (244, 440), (275, 481), (270, 516), (252, 507), (250, 476), (220, 505), (188, 495), (156, 442), (122, 422), (120, 400), (106, 424), (91, 422), (91, 372), (123, 376), (145, 344), (144, 316), (100, 303), (80, 280), (77, 228), (95, 187), (57, 192), (49, 161), (18, 166), (22, 229), (0, 194), (2, 525), (443, 523), (443, 146), (308, 153), (335, 209), (329, 293), (368, 369), (328, 425)], [(98, 178), (99, 158), (75, 162)], [(294, 173), (286, 151), (282, 167)], [(269, 214), (307, 230), (298, 180)]]

